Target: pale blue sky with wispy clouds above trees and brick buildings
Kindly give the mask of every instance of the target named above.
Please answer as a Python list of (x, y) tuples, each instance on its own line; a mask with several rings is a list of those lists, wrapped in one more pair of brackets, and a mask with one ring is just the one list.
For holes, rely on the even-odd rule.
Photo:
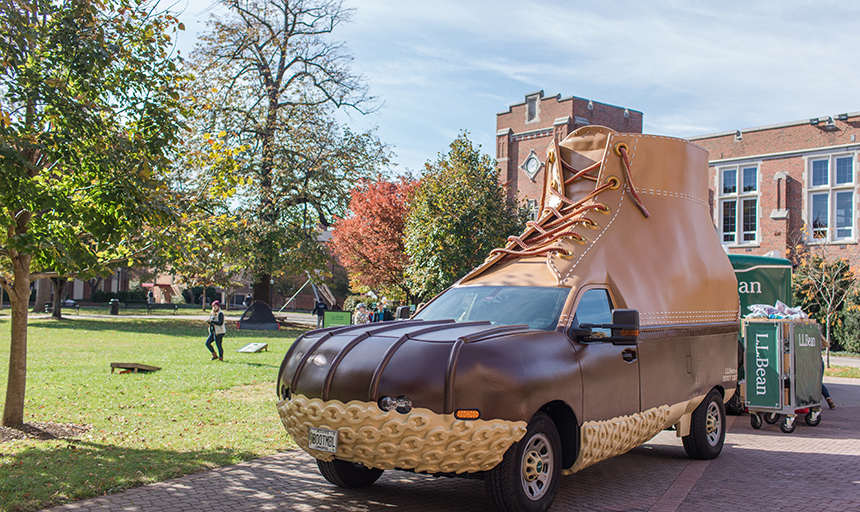
[[(177, 4), (181, 7), (183, 4)], [(209, 0), (188, 0), (182, 53)], [(496, 113), (543, 90), (644, 112), (689, 137), (860, 111), (860, 2), (344, 0), (346, 42), (384, 106), (395, 170), (419, 171), (461, 130), (495, 156)]]

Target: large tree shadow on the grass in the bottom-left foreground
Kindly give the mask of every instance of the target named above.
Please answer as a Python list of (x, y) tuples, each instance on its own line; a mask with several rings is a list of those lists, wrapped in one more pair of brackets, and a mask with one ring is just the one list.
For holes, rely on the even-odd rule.
[(3, 453), (0, 510), (30, 511), (121, 492), (132, 487), (258, 458), (249, 451), (214, 448), (134, 449), (89, 441), (55, 441)]

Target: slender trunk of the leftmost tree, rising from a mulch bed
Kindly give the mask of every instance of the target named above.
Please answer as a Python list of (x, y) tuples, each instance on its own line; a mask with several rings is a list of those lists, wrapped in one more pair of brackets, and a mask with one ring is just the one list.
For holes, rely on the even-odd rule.
[[(14, 261), (23, 259), (23, 262)], [(27, 388), (27, 315), (30, 299), (30, 258), (13, 258), (14, 283), (9, 302), (12, 311), (11, 343), (9, 344), (9, 378), (6, 403), (3, 406), (3, 426), (24, 424), (24, 396)]]

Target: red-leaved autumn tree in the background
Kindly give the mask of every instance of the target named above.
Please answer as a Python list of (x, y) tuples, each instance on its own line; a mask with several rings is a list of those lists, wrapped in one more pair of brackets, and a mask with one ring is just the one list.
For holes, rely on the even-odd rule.
[(352, 190), (350, 216), (336, 219), (332, 251), (350, 281), (373, 290), (397, 289), (414, 297), (404, 276), (408, 257), (403, 231), (409, 197), (418, 185), (411, 177), (389, 182), (364, 180)]

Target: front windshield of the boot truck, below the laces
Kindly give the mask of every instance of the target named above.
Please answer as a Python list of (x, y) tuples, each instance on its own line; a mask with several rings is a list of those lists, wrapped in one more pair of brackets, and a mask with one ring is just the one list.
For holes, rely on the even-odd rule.
[(489, 320), (493, 325), (525, 324), (532, 329), (556, 328), (570, 288), (536, 286), (463, 286), (451, 288), (414, 318)]

